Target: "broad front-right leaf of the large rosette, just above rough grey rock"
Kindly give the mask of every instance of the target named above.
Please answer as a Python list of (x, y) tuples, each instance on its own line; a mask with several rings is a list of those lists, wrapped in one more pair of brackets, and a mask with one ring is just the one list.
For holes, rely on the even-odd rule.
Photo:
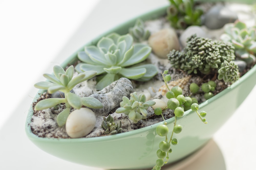
[(122, 70), (119, 73), (129, 79), (138, 79), (144, 76), (146, 74), (146, 71), (147, 70), (145, 68), (122, 68)]

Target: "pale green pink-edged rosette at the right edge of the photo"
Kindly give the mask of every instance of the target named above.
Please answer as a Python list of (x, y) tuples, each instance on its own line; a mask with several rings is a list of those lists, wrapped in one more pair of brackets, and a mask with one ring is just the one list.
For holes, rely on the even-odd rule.
[(228, 23), (224, 26), (225, 33), (220, 36), (224, 42), (231, 42), (235, 47), (236, 56), (248, 64), (256, 61), (256, 26), (248, 28), (242, 21)]

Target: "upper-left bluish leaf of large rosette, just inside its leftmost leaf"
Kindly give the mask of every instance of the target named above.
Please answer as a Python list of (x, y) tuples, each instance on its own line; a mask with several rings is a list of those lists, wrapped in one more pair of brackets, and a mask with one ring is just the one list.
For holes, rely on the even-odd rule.
[(106, 59), (104, 53), (96, 46), (88, 46), (84, 48), (84, 51), (89, 55), (90, 59), (97, 64), (105, 65)]

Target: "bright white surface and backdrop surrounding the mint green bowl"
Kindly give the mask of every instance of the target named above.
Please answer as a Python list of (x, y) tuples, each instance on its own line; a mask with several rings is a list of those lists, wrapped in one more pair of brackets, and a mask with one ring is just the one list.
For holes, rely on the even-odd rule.
[[(97, 35), (165, 5), (167, 0), (0, 1), (0, 169), (102, 170), (60, 160), (27, 139), (25, 119), (38, 91), (33, 85)], [(256, 169), (253, 95), (256, 88), (199, 158), (164, 169)]]

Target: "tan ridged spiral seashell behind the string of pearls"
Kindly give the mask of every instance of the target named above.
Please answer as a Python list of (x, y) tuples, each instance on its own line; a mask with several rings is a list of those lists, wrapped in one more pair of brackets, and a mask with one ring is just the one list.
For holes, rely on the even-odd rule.
[[(184, 86), (189, 82), (190, 78), (191, 78), (191, 75), (183, 77), (183, 78), (179, 78), (175, 81), (171, 81), (171, 82), (167, 83), (167, 85), (168, 85), (169, 89), (171, 89), (174, 86), (179, 86), (180, 88), (183, 89)], [(162, 92), (162, 95), (164, 96), (168, 92), (167, 86), (165, 84), (162, 85), (159, 88), (158, 92)]]

